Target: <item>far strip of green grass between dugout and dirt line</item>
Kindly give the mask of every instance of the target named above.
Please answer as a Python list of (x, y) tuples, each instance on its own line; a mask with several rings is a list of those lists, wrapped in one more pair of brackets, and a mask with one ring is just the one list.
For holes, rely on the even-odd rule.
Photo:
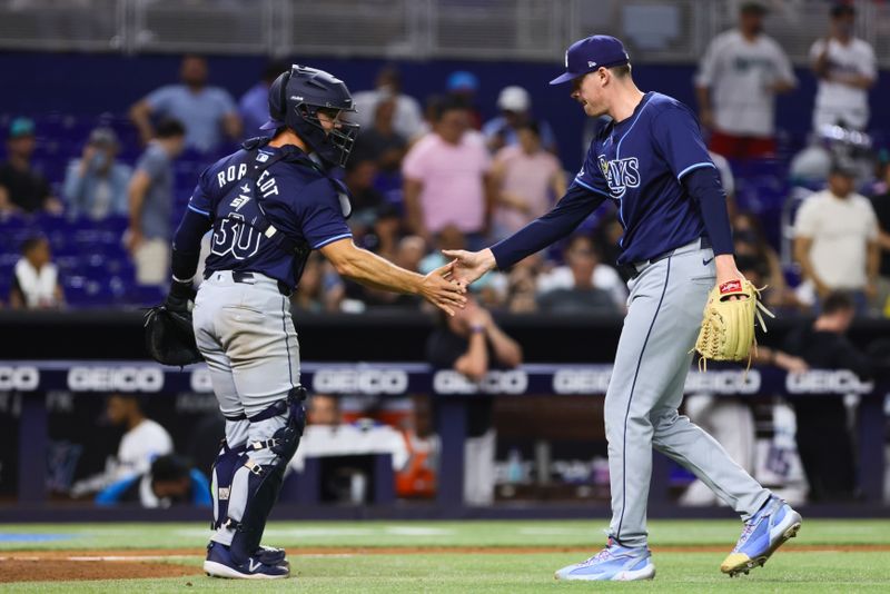
[[(590, 546), (599, 547), (609, 521), (469, 521), (469, 522), (271, 522), (265, 541), (299, 546)], [(739, 521), (652, 521), (653, 547), (665, 545), (731, 545)], [(186, 548), (207, 543), (206, 523), (165, 524), (6, 524), (4, 534), (58, 534), (50, 542), (9, 542), (0, 551), (69, 548)], [(792, 544), (890, 545), (890, 519), (805, 519)]]

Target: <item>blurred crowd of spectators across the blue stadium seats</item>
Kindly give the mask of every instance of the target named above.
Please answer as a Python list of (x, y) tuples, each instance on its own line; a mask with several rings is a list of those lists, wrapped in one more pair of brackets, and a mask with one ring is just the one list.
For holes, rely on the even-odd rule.
[[(828, 17), (827, 34), (811, 50), (819, 86), (817, 140), (803, 151), (815, 151), (821, 164), (805, 179), (809, 189), (827, 189), (814, 191), (797, 209), (793, 257), (782, 259), (763, 230), (764, 221), (736, 208), (734, 200), (733, 169), (774, 155), (775, 96), (797, 85), (784, 51), (763, 32), (767, 4), (743, 2), (738, 28), (712, 41), (695, 79), (696, 107), (729, 196), (740, 267), (769, 286), (769, 305), (814, 311), (829, 291), (846, 289), (860, 313), (882, 315), (890, 310), (888, 174), (863, 176), (877, 170), (876, 159), (853, 155), (851, 160), (843, 142), (819, 140), (827, 138), (827, 127), (867, 129), (874, 53), (852, 36), (853, 8), (834, 6)], [(211, 85), (205, 59), (186, 56), (178, 83), (160, 87), (129, 110), (144, 142), (132, 167), (119, 158), (119, 135), (100, 126), (83, 139), (82, 154), (71, 159), (63, 180), (48, 180), (31, 166), (34, 122), (13, 119), (0, 164), (0, 217), (48, 212), (72, 220), (126, 219), (120, 246), (131, 260), (134, 283), (164, 287), (169, 239), (181, 209), (174, 196), (179, 155), (185, 150), (192, 160), (209, 162), (233, 141), (259, 133), (267, 119), (269, 81), (285, 67), (270, 62), (236, 100)], [(398, 68), (390, 65), (378, 72), (373, 89), (355, 89), (362, 132), (345, 182), (353, 196), (356, 242), (427, 271), (443, 263), (439, 249), (490, 245), (546, 212), (563, 195), (572, 177), (557, 157), (553, 128), (535, 112), (528, 91), (510, 85), (495, 105), (479, 106), (478, 87), (473, 72), (456, 71), (443, 81), (442, 93), (422, 106), (404, 92)], [(484, 112), (494, 117), (485, 120)], [(886, 171), (887, 162), (881, 165)], [(58, 197), (52, 188), (59, 188)], [(512, 270), (490, 274), (474, 287), (479, 301), (512, 313), (621, 314), (626, 289), (611, 265), (622, 231), (609, 208), (562, 246)], [(60, 271), (50, 261), (52, 246), (32, 239), (29, 255), (23, 254), (26, 246), (17, 246), (21, 261), (7, 284), (14, 296), (0, 295), (0, 303), (59, 307), (65, 298)], [(318, 257), (307, 266), (293, 303), (309, 311), (421, 307), (409, 297), (344, 283)]]

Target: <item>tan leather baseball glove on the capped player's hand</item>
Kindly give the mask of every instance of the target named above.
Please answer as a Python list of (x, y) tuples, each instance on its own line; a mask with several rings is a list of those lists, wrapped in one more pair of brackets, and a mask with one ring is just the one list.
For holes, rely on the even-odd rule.
[[(731, 299), (732, 297), (735, 299)], [(695, 340), (701, 358), (699, 366), (706, 368), (708, 359), (744, 360), (751, 364), (751, 347), (756, 348), (754, 317), (767, 331), (761, 310), (775, 317), (760, 303), (760, 289), (746, 279), (730, 280), (711, 289), (704, 319)]]

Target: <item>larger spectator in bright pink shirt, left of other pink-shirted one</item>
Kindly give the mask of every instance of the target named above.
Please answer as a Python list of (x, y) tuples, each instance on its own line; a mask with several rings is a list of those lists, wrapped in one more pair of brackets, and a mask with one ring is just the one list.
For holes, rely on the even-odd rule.
[(427, 245), (453, 224), (472, 249), (487, 231), (492, 205), (491, 158), (478, 132), (469, 131), (469, 111), (445, 102), (433, 133), (418, 140), (402, 165), (405, 211), (412, 232)]

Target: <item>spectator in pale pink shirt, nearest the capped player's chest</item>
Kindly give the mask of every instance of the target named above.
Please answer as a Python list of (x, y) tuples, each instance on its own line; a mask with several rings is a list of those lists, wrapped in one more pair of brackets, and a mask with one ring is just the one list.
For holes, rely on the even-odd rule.
[(541, 146), (537, 123), (516, 128), (517, 145), (506, 146), (494, 157), (495, 186), (493, 238), (501, 240), (550, 210), (554, 198), (565, 194), (565, 174), (560, 160)]

